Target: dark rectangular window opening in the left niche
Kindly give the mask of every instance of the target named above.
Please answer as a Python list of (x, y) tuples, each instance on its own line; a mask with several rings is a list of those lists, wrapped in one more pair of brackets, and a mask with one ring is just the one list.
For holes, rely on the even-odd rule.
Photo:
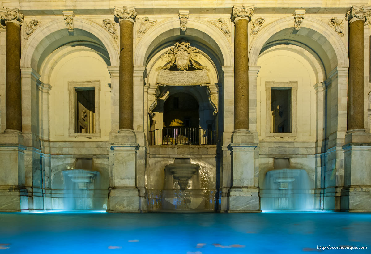
[(94, 133), (95, 88), (75, 88), (75, 133)]

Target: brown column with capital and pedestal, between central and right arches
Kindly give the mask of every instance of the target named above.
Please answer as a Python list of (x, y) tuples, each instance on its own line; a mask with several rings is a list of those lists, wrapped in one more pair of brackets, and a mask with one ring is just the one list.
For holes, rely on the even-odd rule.
[[(254, 13), (246, 6), (233, 7), (234, 29), (234, 127), (229, 150), (231, 157), (231, 184), (227, 192), (227, 212), (260, 212), (254, 134), (249, 131), (249, 57), (248, 24)], [(257, 133), (256, 133), (257, 134)], [(257, 135), (255, 135), (257, 136)], [(223, 176), (224, 178), (224, 176)], [(225, 198), (224, 198), (225, 199)], [(223, 193), (222, 193), (223, 200)], [(224, 207), (221, 207), (224, 210)]]

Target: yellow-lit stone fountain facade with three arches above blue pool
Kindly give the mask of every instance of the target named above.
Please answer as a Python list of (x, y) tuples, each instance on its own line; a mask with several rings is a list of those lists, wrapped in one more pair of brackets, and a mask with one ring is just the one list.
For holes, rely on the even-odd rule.
[(0, 211), (63, 208), (91, 159), (108, 212), (260, 212), (288, 159), (370, 212), (371, 7), (276, 2), (0, 1)]

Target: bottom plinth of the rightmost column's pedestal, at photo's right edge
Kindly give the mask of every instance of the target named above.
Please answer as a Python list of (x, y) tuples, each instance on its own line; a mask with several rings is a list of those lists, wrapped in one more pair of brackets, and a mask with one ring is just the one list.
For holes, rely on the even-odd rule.
[(371, 185), (345, 186), (341, 190), (342, 212), (371, 212)]

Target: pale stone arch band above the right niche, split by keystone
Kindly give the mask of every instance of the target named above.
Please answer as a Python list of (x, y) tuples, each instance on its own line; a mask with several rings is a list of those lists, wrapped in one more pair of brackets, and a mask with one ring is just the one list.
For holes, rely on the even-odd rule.
[[(274, 36), (276, 33), (284, 30), (293, 28), (294, 20), (292, 17), (285, 17), (283, 19), (276, 20), (271, 24), (264, 27), (259, 36), (256, 36), (252, 40), (252, 47), (249, 54), (249, 66), (256, 66), (257, 59), (265, 46), (266, 42)], [(336, 56), (336, 66), (338, 67), (348, 67), (349, 59), (347, 49), (345, 49), (339, 35), (332, 29), (328, 24), (325, 24), (317, 19), (311, 17), (305, 17), (302, 27), (314, 30), (321, 34), (329, 44), (331, 44), (332, 49)], [(331, 70), (330, 70), (331, 71)], [(328, 72), (329, 73), (329, 72)], [(326, 77), (325, 77), (326, 78)]]

